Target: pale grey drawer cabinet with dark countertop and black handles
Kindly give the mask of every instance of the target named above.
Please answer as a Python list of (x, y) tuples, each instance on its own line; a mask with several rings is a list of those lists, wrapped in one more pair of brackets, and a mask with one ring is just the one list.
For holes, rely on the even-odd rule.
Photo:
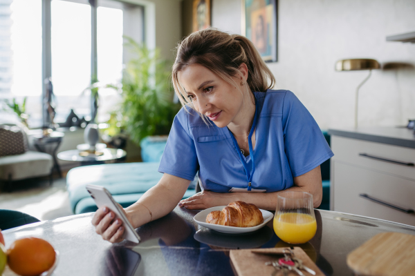
[(331, 210), (415, 226), (415, 136), (406, 128), (329, 130)]

